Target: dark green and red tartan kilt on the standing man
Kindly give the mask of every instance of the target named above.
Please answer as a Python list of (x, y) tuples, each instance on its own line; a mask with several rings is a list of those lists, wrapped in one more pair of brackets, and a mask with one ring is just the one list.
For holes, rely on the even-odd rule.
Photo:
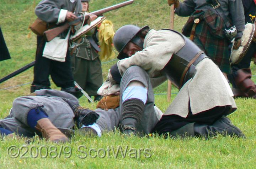
[(222, 72), (230, 73), (231, 67), (229, 62), (229, 44), (226, 38), (219, 39), (210, 33), (205, 21), (201, 21), (196, 26), (194, 34), (194, 43), (201, 48), (207, 56), (217, 64)]

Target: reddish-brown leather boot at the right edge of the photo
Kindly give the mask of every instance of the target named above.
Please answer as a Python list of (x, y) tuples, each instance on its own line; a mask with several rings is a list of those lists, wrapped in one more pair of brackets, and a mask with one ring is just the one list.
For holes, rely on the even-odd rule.
[[(243, 93), (241, 96), (237, 94), (237, 97), (254, 97), (256, 94), (256, 85), (251, 80), (251, 69), (239, 69), (235, 78), (236, 86)], [(233, 90), (234, 92), (234, 90)], [(234, 92), (234, 95), (235, 92)]]

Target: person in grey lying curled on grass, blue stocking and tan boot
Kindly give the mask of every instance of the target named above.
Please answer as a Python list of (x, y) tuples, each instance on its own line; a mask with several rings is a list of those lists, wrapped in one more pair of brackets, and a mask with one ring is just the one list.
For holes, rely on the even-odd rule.
[(93, 124), (98, 118), (67, 92), (41, 89), (32, 94), (13, 101), (10, 115), (0, 120), (1, 135), (32, 137), (36, 133), (52, 142), (66, 142), (72, 129)]

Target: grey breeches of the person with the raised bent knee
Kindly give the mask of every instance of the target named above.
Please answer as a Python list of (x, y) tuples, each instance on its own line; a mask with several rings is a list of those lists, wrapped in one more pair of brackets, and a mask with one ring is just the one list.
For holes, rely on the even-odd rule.
[(122, 76), (120, 84), (120, 106), (117, 109), (109, 109), (108, 111), (102, 109), (95, 110), (95, 112), (100, 115), (96, 123), (100, 126), (102, 131), (113, 130), (118, 128), (119, 124), (122, 123), (122, 96), (124, 90), (132, 81), (139, 81), (148, 89), (148, 99), (146, 101), (142, 119), (137, 131), (144, 134), (149, 134), (159, 121), (161, 113), (159, 114), (159, 112), (155, 111), (154, 109), (154, 93), (148, 74), (139, 66), (131, 66)]

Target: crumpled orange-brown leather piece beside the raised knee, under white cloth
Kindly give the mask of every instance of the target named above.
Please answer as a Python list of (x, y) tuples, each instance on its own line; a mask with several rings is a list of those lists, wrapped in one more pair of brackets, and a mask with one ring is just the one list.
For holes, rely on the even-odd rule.
[(108, 110), (108, 109), (115, 109), (119, 106), (119, 95), (108, 95), (103, 97), (100, 101), (98, 101), (97, 108)]

